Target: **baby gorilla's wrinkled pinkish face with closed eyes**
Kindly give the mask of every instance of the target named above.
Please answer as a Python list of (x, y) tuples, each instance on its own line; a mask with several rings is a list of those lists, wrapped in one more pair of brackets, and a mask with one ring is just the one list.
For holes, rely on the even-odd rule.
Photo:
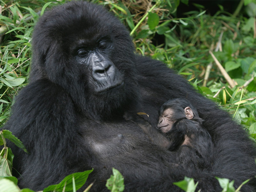
[(164, 110), (164, 113), (159, 116), (157, 128), (163, 133), (167, 133), (172, 129), (172, 125), (175, 120), (172, 119), (173, 110), (168, 108)]

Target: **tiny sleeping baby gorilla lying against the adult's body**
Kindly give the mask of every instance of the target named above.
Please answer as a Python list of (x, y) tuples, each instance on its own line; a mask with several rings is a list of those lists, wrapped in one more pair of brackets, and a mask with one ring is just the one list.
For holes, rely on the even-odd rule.
[(126, 113), (124, 118), (137, 123), (156, 145), (177, 151), (177, 163), (184, 168), (211, 168), (212, 138), (202, 126), (204, 120), (187, 99), (165, 102), (157, 128), (139, 115)]

